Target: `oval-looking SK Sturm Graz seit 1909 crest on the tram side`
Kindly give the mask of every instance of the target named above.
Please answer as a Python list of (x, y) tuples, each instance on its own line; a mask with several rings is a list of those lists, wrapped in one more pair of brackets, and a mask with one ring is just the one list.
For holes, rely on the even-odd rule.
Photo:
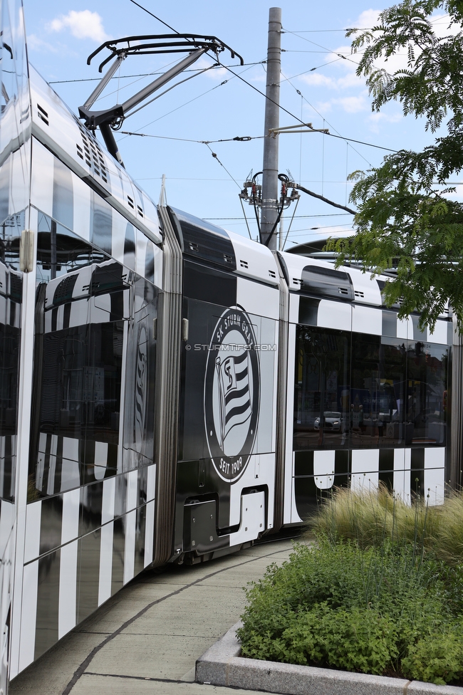
[(244, 310), (231, 307), (217, 321), (204, 380), (204, 427), (214, 467), (225, 481), (246, 468), (256, 439), (260, 379), (256, 338)]

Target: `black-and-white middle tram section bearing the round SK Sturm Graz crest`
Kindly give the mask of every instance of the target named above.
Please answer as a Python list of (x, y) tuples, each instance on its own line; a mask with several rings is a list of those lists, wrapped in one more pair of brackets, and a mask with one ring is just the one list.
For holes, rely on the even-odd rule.
[[(197, 561), (255, 540), (273, 524), (277, 314), (259, 315), (255, 302), (249, 310), (246, 298), (253, 289), (268, 294), (276, 313), (279, 303), (278, 289), (237, 276), (227, 233), (194, 226), (187, 216), (180, 223), (183, 339), (174, 550)], [(261, 343), (269, 348), (265, 354)]]

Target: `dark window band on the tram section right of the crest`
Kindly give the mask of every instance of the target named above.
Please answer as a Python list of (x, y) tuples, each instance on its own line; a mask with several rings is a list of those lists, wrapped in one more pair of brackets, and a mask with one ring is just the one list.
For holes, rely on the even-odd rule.
[(294, 449), (443, 446), (448, 348), (300, 325)]

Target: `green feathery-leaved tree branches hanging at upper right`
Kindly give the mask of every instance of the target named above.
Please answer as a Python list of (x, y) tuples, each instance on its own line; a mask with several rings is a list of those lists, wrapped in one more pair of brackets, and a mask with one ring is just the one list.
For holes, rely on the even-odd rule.
[[(444, 38), (435, 32), (436, 11), (447, 14)], [(449, 301), (460, 331), (463, 204), (445, 194), (455, 190), (446, 182), (463, 169), (462, 22), (461, 0), (405, 0), (383, 11), (372, 29), (348, 33), (355, 34), (353, 52), (364, 51), (357, 74), (366, 77), (372, 109), (400, 101), (404, 115), (423, 117), (425, 129), (436, 135), (434, 144), (421, 152), (400, 150), (380, 167), (351, 175), (358, 231), (350, 239), (330, 242), (340, 254), (338, 265), (361, 260), (374, 275), (396, 269), (397, 278), (386, 284), (385, 301), (391, 305), (401, 298), (401, 318), (417, 310), (421, 325), (433, 328)], [(375, 67), (379, 58), (387, 61), (404, 49), (406, 68), (389, 73)]]

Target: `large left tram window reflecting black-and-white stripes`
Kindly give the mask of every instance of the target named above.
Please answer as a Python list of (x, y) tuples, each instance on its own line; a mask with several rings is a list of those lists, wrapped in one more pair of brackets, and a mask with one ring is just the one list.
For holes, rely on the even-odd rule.
[(41, 213), (37, 268), (29, 501), (154, 455), (157, 289)]

